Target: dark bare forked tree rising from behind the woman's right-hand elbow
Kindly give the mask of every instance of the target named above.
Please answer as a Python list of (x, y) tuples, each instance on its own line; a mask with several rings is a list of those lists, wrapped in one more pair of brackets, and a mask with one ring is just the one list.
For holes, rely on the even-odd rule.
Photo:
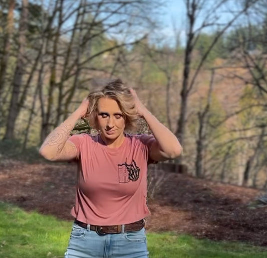
[[(186, 38), (186, 47), (184, 54), (184, 68), (183, 68), (183, 81), (181, 89), (181, 105), (180, 105), (180, 115), (178, 119), (176, 136), (183, 145), (185, 137), (185, 126), (186, 126), (186, 117), (187, 117), (187, 105), (188, 105), (188, 96), (193, 86), (197, 76), (208, 57), (210, 51), (215, 46), (218, 39), (224, 34), (224, 32), (242, 15), (246, 10), (253, 6), (257, 0), (246, 1), (239, 11), (235, 12), (227, 23), (219, 23), (219, 10), (221, 10), (223, 5), (228, 3), (227, 0), (218, 0), (218, 1), (203, 1), (203, 0), (185, 0), (186, 6), (186, 16), (187, 16), (187, 38)], [(206, 12), (206, 15), (202, 19), (200, 26), (197, 26), (196, 22), (201, 17), (202, 12)], [(217, 35), (214, 37), (213, 41), (210, 42), (210, 45), (206, 52), (202, 55), (196, 69), (192, 70), (192, 53), (196, 46), (198, 37), (200, 33), (208, 27), (217, 27)]]

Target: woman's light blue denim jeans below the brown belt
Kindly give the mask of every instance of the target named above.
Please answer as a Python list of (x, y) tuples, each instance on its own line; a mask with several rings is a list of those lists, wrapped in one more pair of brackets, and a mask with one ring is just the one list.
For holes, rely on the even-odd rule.
[(73, 224), (65, 258), (148, 258), (145, 228), (100, 236)]

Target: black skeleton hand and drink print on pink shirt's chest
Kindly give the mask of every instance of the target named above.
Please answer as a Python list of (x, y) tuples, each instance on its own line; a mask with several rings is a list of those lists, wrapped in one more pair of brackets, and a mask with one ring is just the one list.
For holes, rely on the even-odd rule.
[(119, 170), (119, 183), (128, 183), (131, 181), (137, 181), (140, 174), (140, 168), (136, 165), (136, 162), (132, 161), (131, 164), (127, 164), (126, 161), (123, 164), (118, 164)]

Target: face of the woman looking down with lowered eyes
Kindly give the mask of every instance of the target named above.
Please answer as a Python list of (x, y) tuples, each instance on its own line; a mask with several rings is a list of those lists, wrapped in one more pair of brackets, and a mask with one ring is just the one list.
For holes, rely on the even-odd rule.
[(123, 136), (125, 120), (118, 103), (109, 98), (101, 98), (97, 104), (98, 128), (106, 140), (116, 140)]

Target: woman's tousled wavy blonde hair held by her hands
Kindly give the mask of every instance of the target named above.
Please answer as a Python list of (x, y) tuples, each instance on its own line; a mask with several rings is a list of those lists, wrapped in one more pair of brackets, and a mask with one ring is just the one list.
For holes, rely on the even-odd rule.
[(89, 119), (90, 126), (98, 129), (97, 105), (101, 98), (110, 98), (118, 103), (125, 120), (125, 131), (136, 130), (138, 113), (134, 104), (134, 98), (130, 89), (122, 82), (121, 79), (112, 80), (104, 85), (104, 87), (97, 89), (88, 95), (89, 107), (86, 116)]

